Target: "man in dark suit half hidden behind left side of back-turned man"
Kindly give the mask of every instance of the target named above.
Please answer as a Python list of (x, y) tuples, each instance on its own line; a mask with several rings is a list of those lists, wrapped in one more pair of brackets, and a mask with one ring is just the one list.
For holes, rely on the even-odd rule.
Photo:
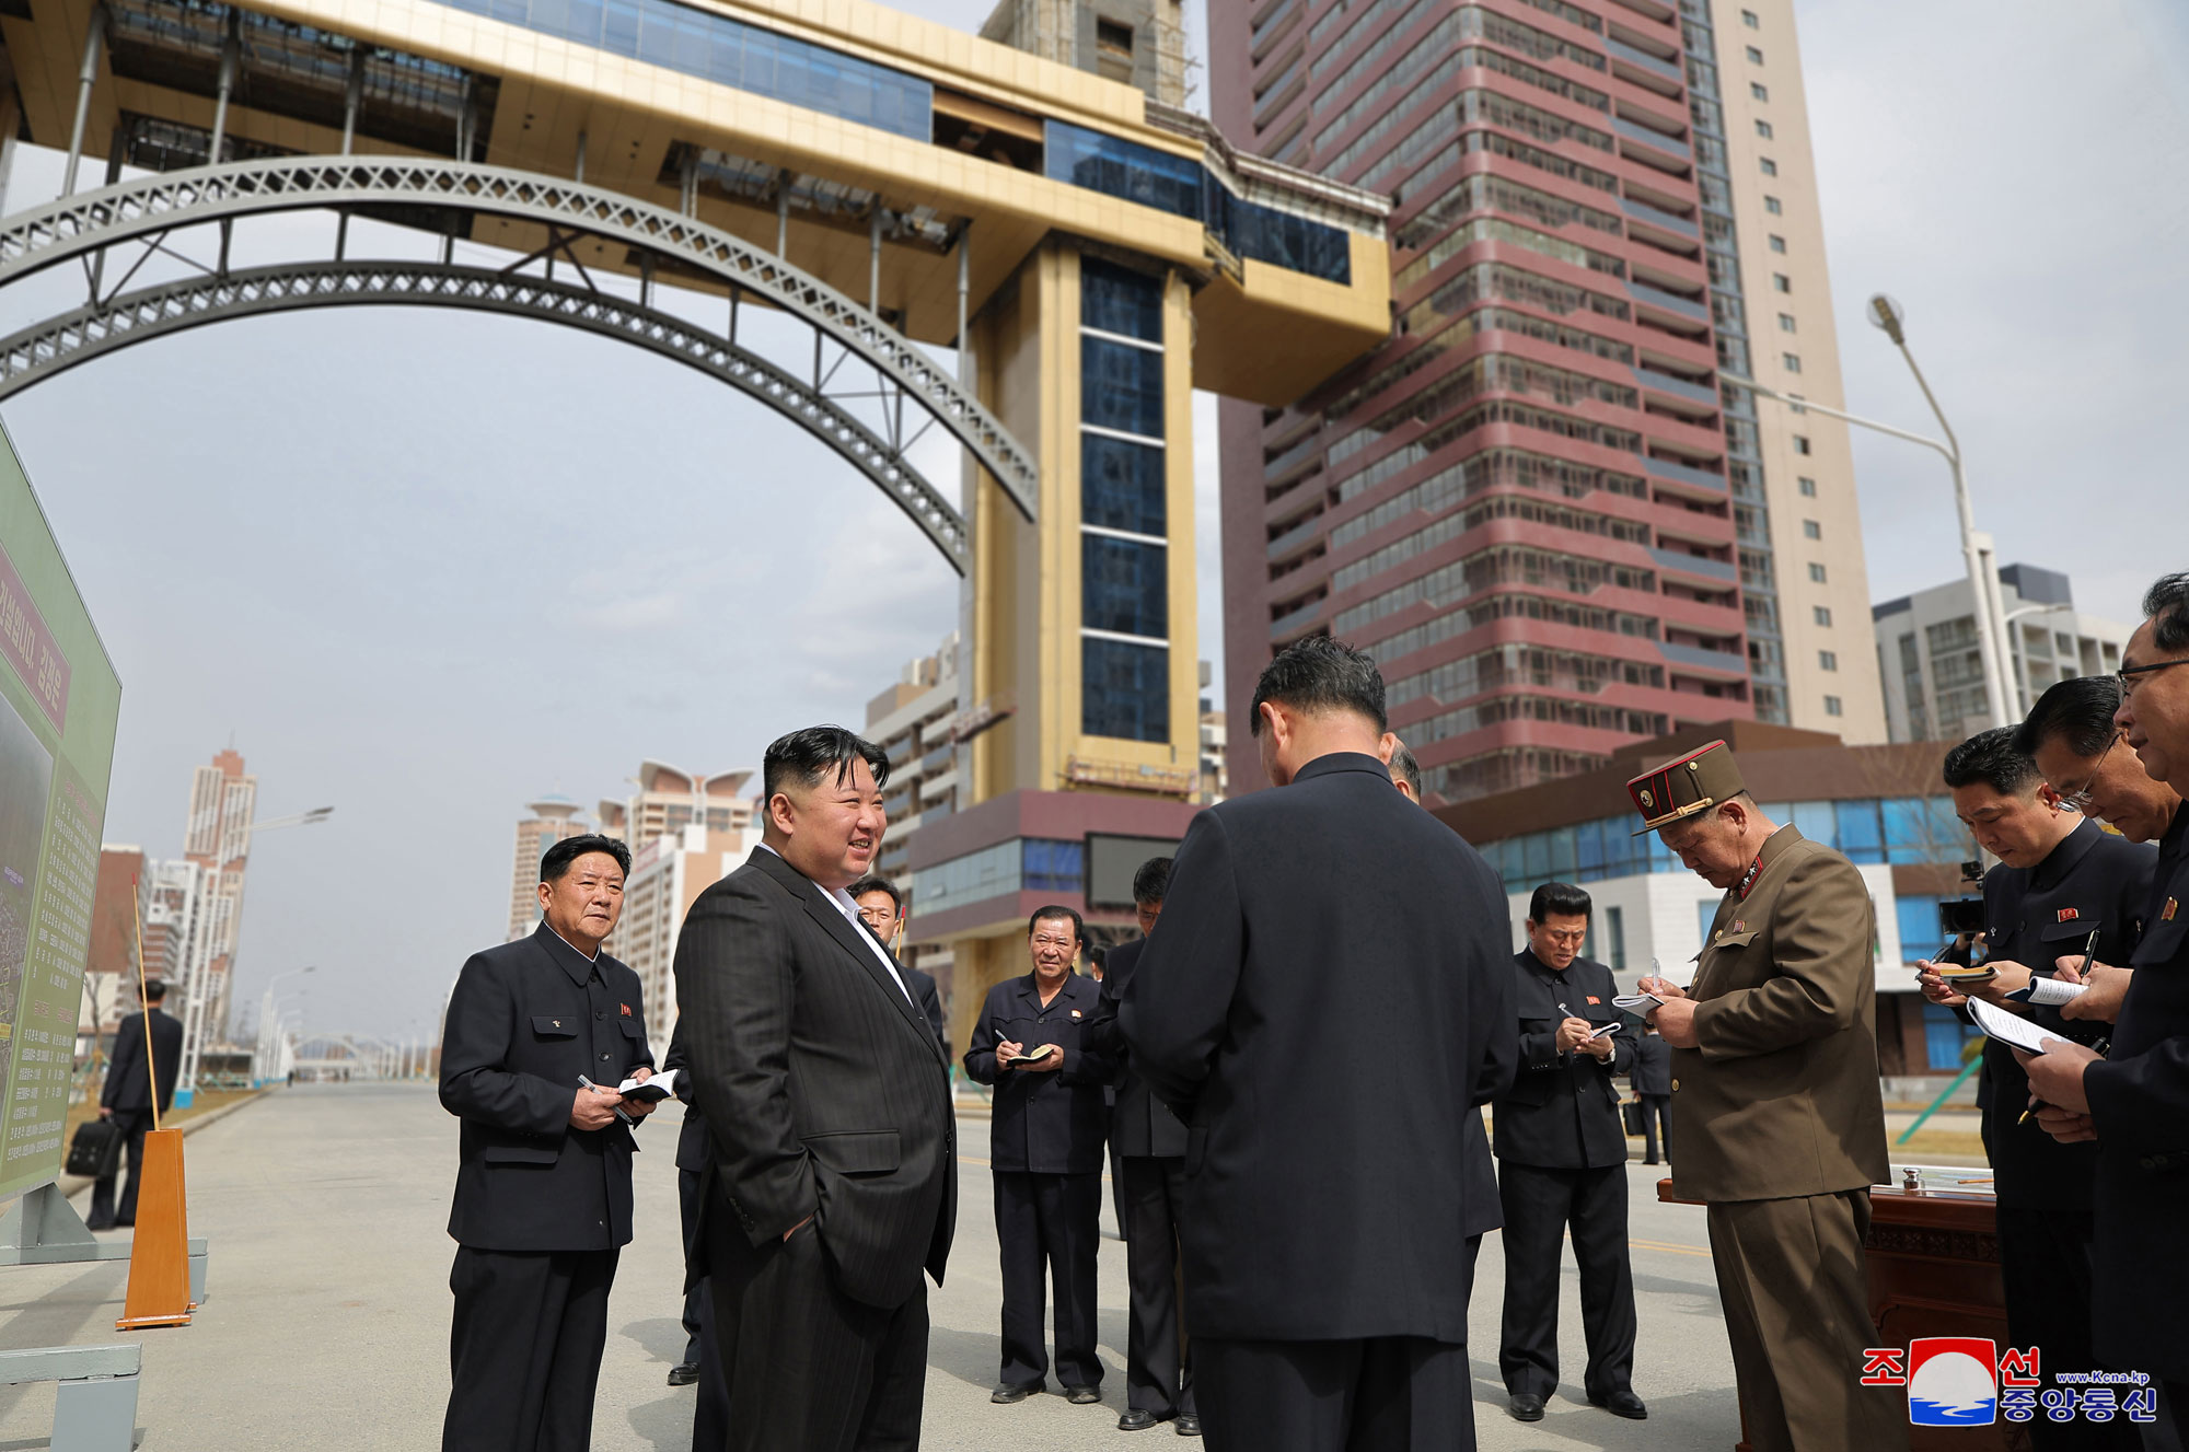
[(1119, 1229), (1125, 1236), (1130, 1321), (1125, 1330), (1125, 1413), (1121, 1432), (1145, 1432), (1178, 1419), (1180, 1437), (1197, 1437), (1202, 1417), (1193, 1400), (1193, 1354), (1180, 1354), (1178, 1225), (1186, 1209), (1186, 1126), (1132, 1072), (1132, 1050), (1116, 1032), (1116, 1008), (1132, 988), (1140, 949), (1162, 916), (1171, 859), (1149, 857), (1132, 875), (1132, 905), (1140, 938), (1110, 949), (1101, 980), (1099, 1045), (1116, 1063), (1116, 1102), (1110, 1109), (1112, 1176), (1119, 1185)]

